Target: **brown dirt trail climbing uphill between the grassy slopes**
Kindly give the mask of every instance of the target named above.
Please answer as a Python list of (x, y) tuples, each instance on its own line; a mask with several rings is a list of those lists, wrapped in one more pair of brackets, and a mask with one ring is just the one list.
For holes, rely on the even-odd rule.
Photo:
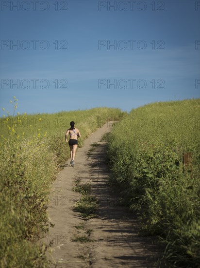
[[(55, 226), (43, 238), (43, 242), (53, 240), (51, 268), (145, 268), (157, 259), (159, 249), (152, 245), (153, 237), (138, 236), (139, 221), (127, 208), (118, 206), (117, 195), (108, 186), (105, 142), (100, 139), (111, 125), (106, 123), (85, 140), (76, 153), (74, 168), (68, 160), (53, 184), (48, 211)], [(92, 143), (98, 146), (88, 156)], [(82, 196), (72, 191), (77, 179), (81, 184), (89, 183), (99, 200), (96, 218), (84, 220), (72, 211)], [(84, 242), (73, 241), (80, 239)]]

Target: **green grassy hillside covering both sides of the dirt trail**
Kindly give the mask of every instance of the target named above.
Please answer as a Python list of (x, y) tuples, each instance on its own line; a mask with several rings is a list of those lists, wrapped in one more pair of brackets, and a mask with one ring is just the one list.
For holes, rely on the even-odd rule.
[[(110, 183), (141, 217), (143, 234), (166, 245), (166, 267), (200, 267), (200, 99), (158, 102), (132, 110), (94, 108), (0, 118), (0, 267), (49, 267), (51, 183), (69, 157), (65, 131), (75, 121), (84, 139), (108, 118)], [(192, 166), (183, 166), (191, 152)], [(84, 189), (81, 189), (81, 191)], [(85, 190), (84, 190), (85, 191)]]

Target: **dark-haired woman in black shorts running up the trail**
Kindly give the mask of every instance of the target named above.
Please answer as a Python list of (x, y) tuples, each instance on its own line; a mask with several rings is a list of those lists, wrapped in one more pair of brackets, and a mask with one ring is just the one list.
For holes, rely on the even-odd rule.
[[(75, 158), (76, 149), (78, 147), (77, 137), (81, 137), (79, 130), (75, 129), (74, 125), (75, 125), (74, 121), (71, 121), (70, 122), (71, 127), (67, 129), (66, 134), (65, 134), (65, 140), (66, 142), (68, 142), (69, 148), (70, 148), (70, 157), (71, 157), (70, 164), (72, 167), (74, 167), (74, 158)], [(68, 134), (70, 136), (69, 141), (67, 140)]]

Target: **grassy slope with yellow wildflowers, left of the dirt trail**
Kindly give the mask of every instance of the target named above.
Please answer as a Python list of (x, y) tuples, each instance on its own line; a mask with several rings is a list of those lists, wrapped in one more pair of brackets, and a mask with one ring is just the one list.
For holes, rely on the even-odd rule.
[[(15, 101), (15, 100), (14, 100)], [(48, 267), (47, 245), (35, 243), (48, 230), (51, 182), (69, 157), (65, 131), (75, 121), (84, 139), (119, 109), (41, 115), (6, 115), (0, 119), (0, 267)]]

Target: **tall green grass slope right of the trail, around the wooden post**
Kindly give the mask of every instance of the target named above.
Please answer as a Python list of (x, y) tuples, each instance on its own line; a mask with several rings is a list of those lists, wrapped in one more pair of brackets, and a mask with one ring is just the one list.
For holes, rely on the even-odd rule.
[[(166, 243), (167, 267), (200, 267), (200, 99), (132, 110), (108, 137), (111, 183)], [(192, 153), (192, 171), (183, 167)]]

